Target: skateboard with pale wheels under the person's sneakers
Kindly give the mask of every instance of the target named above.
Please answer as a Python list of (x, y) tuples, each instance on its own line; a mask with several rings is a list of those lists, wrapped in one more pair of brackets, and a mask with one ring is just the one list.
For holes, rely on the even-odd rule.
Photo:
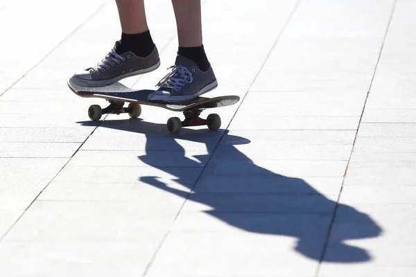
[[(88, 109), (88, 116), (91, 120), (100, 120), (103, 114), (124, 114), (128, 113), (130, 118), (137, 118), (141, 115), (141, 105), (161, 107), (171, 111), (182, 111), (185, 119), (177, 117), (168, 119), (166, 127), (168, 131), (176, 134), (182, 127), (207, 125), (211, 130), (219, 129), (221, 118), (218, 114), (209, 114), (207, 119), (200, 118), (200, 114), (205, 109), (216, 107), (226, 107), (239, 102), (239, 96), (219, 96), (215, 98), (198, 97), (187, 102), (159, 102), (149, 101), (148, 95), (154, 90), (141, 89), (135, 90), (126, 87), (120, 82), (114, 82), (104, 87), (83, 87), (68, 80), (68, 87), (77, 96), (85, 98), (103, 98), (110, 102), (110, 105), (102, 109), (99, 105), (91, 105)], [(123, 107), (128, 102), (128, 107)]]

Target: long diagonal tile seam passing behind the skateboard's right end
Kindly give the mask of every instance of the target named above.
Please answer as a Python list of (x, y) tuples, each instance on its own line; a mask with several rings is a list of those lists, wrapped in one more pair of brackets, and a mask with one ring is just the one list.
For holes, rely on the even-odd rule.
[[(293, 15), (295, 14), (295, 11), (297, 10), (297, 7), (299, 6), (300, 2), (302, 0), (298, 0), (295, 3), (295, 6), (293, 7), (293, 10), (291, 11), (291, 13), (289, 14), (286, 23), (284, 24), (283, 28), (281, 28), (281, 31), (279, 32), (279, 34), (277, 35), (277, 38), (275, 39), (275, 42), (272, 44), (272, 47), (270, 48), (270, 51), (268, 52), (268, 55), (266, 56), (266, 58), (264, 59), (263, 63), (260, 66), (259, 71), (257, 72), (257, 74), (254, 76), (254, 79), (252, 81), (252, 83), (250, 84), (250, 87), (248, 87), (248, 90), (245, 92), (243, 99), (241, 99), (240, 101), (240, 105), (237, 107), (236, 111), (234, 112), (234, 115), (232, 116), (231, 120), (229, 120), (229, 123), (227, 125), (227, 127), (225, 127), (225, 129), (227, 130), (229, 128), (229, 125), (231, 125), (232, 120), (234, 119), (234, 117), (236, 116), (237, 112), (239, 111), (239, 108), (241, 107), (241, 104), (243, 103), (245, 96), (247, 96), (248, 92), (250, 91), (250, 88), (252, 87), (252, 85), (254, 84), (254, 82), (257, 80), (257, 77), (259, 76), (261, 70), (263, 69), (264, 65), (266, 64), (268, 57), (270, 57), (270, 54), (272, 53), (273, 49), (275, 48), (277, 42), (279, 42), (279, 39), (281, 37), (281, 35), (284, 33), (284, 30), (286, 29), (286, 27), (288, 26), (289, 22), (291, 21)], [(205, 168), (207, 168), (207, 165), (209, 163), (209, 161), (211, 161), (211, 157), (214, 155), (216, 149), (218, 148), (218, 145), (220, 144), (221, 140), (223, 139), (223, 137), (225, 136), (224, 132), (221, 136), (220, 139), (218, 140), (218, 142), (216, 143), (214, 150), (212, 151), (212, 154), (210, 155), (206, 165), (202, 168), (202, 171), (200, 172), (200, 175), (198, 175), (198, 178), (196, 179), (195, 183), (193, 184), (192, 188), (191, 188), (191, 193), (193, 192), (193, 189), (195, 188), (195, 186), (198, 184), (198, 181), (200, 179), (200, 177), (204, 174), (205, 172)], [(160, 244), (158, 245), (157, 249), (155, 250), (155, 253), (153, 253), (153, 256), (150, 258), (150, 262), (148, 262), (148, 265), (146, 265), (146, 268), (144, 269), (143, 274), (141, 274), (141, 277), (146, 277), (146, 275), (148, 274), (148, 271), (150, 269), (150, 267), (152, 267), (153, 262), (157, 256), (157, 253), (159, 253), (159, 250), (162, 248), (162, 245), (164, 244), (166, 238), (168, 237), (168, 234), (171, 233), (171, 229), (173, 224), (176, 222), (177, 217), (179, 216), (179, 214), (181, 213), (185, 203), (187, 202), (187, 200), (189, 199), (191, 193), (188, 193), (188, 196), (186, 199), (184, 199), (184, 202), (182, 203), (182, 206), (180, 206), (179, 211), (177, 212), (177, 214), (175, 215), (175, 218), (172, 221), (171, 227), (168, 229), (168, 231), (166, 232), (166, 234), (164, 235), (164, 238), (162, 238), (162, 241), (160, 242)]]

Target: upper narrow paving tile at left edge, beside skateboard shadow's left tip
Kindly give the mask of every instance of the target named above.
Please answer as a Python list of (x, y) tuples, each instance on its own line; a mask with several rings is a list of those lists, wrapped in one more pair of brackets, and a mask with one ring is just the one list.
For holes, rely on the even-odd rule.
[(83, 143), (90, 128), (1, 128), (0, 143)]

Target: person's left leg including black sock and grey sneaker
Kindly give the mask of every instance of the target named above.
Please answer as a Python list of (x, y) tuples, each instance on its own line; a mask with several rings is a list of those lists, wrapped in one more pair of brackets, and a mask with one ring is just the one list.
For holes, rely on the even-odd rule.
[(116, 5), (122, 30), (120, 41), (96, 66), (74, 74), (73, 82), (103, 86), (159, 67), (159, 53), (148, 30), (144, 0), (116, 0)]

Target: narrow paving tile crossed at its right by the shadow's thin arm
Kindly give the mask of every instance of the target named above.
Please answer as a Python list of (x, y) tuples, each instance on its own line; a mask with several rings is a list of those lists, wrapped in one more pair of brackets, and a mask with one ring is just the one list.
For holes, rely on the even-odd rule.
[(65, 166), (55, 178), (60, 183), (98, 184), (171, 184), (192, 185), (200, 176), (202, 168), (174, 167), (123, 167), (123, 166)]

